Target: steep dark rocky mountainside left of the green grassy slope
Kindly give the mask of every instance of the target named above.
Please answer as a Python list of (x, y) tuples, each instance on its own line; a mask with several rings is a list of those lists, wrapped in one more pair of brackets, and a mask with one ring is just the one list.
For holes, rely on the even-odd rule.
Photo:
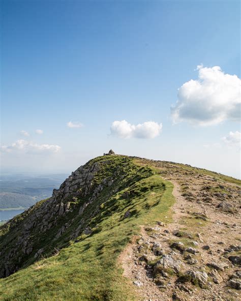
[(123, 157), (115, 166), (110, 158), (101, 158), (80, 166), (49, 199), (2, 226), (0, 277), (8, 277), (41, 255), (50, 256), (55, 248), (65, 246), (63, 240), (68, 244), (82, 233), (93, 233), (89, 221), (98, 215), (101, 203), (127, 181), (123, 174), (131, 162)]

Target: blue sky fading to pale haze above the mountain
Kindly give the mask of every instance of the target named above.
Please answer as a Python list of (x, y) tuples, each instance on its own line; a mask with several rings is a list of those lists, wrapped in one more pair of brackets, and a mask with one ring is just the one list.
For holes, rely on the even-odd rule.
[[(217, 82), (222, 74), (240, 78), (238, 1), (1, 5), (3, 172), (71, 172), (113, 148), (119, 154), (240, 176), (240, 123), (225, 111), (231, 104), (237, 112), (237, 101), (230, 96), (237, 81), (223, 77)], [(178, 88), (198, 80), (200, 70), (212, 71), (215, 66), (222, 70), (214, 72), (215, 85), (225, 86), (221, 98), (227, 97), (212, 99), (207, 93), (197, 100), (205, 95), (203, 84), (193, 95), (194, 105), (179, 96), (184, 109), (173, 124), (170, 108), (178, 100)], [(206, 111), (199, 112), (217, 99), (224, 104), (214, 106), (207, 125)], [(195, 111), (200, 103), (201, 110)], [(199, 119), (192, 114), (199, 114)], [(132, 125), (129, 136), (120, 135), (123, 124), (112, 126), (123, 120)], [(70, 121), (83, 126), (70, 128)], [(133, 130), (150, 121), (162, 124), (154, 138), (148, 137), (154, 124), (147, 134), (145, 126), (138, 133)], [(37, 134), (37, 129), (43, 133)]]

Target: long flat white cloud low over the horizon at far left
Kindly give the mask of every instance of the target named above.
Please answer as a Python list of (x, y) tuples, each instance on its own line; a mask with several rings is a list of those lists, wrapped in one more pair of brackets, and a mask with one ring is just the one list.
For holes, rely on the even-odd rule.
[(52, 144), (37, 144), (35, 142), (26, 141), (24, 139), (19, 139), (11, 145), (1, 146), (2, 152), (14, 152), (19, 151), (23, 153), (40, 153), (40, 152), (49, 152), (49, 153), (58, 153), (61, 149), (58, 145)]

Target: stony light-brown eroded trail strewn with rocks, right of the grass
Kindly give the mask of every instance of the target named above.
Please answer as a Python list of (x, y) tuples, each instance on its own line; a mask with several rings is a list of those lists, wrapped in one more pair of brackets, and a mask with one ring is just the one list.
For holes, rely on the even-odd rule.
[[(166, 179), (174, 185), (173, 221), (141, 227), (120, 257), (123, 276), (146, 301), (238, 300), (239, 188), (200, 174)], [(229, 192), (228, 202), (222, 190)]]

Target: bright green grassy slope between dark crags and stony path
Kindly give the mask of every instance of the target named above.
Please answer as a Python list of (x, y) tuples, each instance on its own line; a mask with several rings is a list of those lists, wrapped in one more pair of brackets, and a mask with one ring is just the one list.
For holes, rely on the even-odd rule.
[[(104, 160), (101, 158), (95, 160)], [(126, 159), (113, 156), (108, 160), (120, 164)], [(122, 277), (116, 263), (118, 255), (139, 232), (139, 225), (171, 220), (174, 198), (172, 185), (160, 177), (158, 170), (137, 166), (130, 160), (126, 172), (127, 178), (136, 177), (135, 184), (101, 202), (100, 214), (89, 223), (98, 225), (94, 233), (82, 235), (78, 243), (70, 242), (57, 256), (1, 279), (1, 300), (138, 299)], [(130, 198), (122, 197), (125, 191), (131, 192)], [(127, 210), (131, 217), (124, 219)]]

